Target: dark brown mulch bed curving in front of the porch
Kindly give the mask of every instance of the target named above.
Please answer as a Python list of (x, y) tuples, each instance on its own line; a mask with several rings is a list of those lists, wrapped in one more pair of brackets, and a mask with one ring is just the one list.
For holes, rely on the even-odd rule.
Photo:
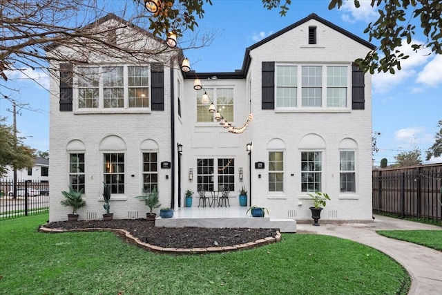
[(59, 221), (43, 226), (48, 229), (126, 229), (142, 242), (164, 248), (226, 247), (275, 237), (277, 234), (277, 229), (155, 227), (155, 222), (145, 219)]

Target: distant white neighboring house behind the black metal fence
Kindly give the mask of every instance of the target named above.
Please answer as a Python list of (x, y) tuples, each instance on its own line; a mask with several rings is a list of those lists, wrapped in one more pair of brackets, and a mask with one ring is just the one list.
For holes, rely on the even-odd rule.
[[(3, 179), (11, 180), (14, 178), (14, 170), (8, 167), (8, 173)], [(31, 180), (32, 182), (49, 182), (49, 160), (44, 158), (35, 159), (34, 166), (17, 170), (17, 181), (22, 182)]]

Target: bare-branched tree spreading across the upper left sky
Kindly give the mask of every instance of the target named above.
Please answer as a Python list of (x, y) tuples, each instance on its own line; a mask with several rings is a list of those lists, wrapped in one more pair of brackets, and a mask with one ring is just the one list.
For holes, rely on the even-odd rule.
[[(167, 1), (166, 1), (167, 2)], [(186, 1), (189, 9), (200, 11), (200, 1)], [(195, 2), (195, 3), (193, 3)], [(103, 6), (103, 3), (109, 4)], [(140, 30), (140, 35), (131, 35), (131, 38), (120, 38), (115, 41), (115, 34), (124, 32), (125, 28), (135, 26), (148, 30), (149, 17), (146, 8), (141, 4), (143, 0), (134, 1), (102, 1), (97, 0), (0, 0), (0, 80), (8, 80), (10, 71), (23, 71), (24, 68), (42, 70), (48, 75), (49, 62), (60, 61), (73, 64), (89, 64), (93, 61), (88, 48), (99, 50), (98, 54), (109, 57), (131, 59), (133, 63), (140, 63), (155, 57), (161, 61), (162, 53), (173, 51), (176, 55), (180, 51), (160, 43), (156, 48), (146, 50), (145, 46), (134, 46), (137, 41), (142, 41), (145, 35)], [(170, 2), (172, 3), (172, 2)], [(175, 13), (169, 17), (173, 18)], [(191, 15), (184, 14), (183, 21), (186, 27), (181, 29), (179, 22), (173, 22), (173, 26), (179, 32), (184, 32), (187, 27), (193, 28)], [(115, 24), (113, 28), (98, 29), (89, 24), (97, 19), (114, 13), (125, 19), (127, 23)], [(160, 26), (160, 24), (157, 24)], [(151, 25), (152, 27), (152, 25)], [(155, 35), (166, 39), (166, 31)], [(181, 45), (188, 44), (188, 48), (198, 48), (211, 42), (211, 35), (202, 34)], [(161, 41), (161, 39), (159, 39)], [(64, 46), (72, 50), (73, 54), (57, 55), (47, 54), (48, 50), (55, 46)], [(185, 46), (182, 46), (185, 49)], [(170, 55), (169, 55), (170, 59)], [(169, 60), (168, 59), (168, 60)], [(53, 65), (55, 67), (56, 63)], [(57, 68), (53, 68), (58, 70)], [(2, 85), (6, 87), (4, 84)], [(14, 90), (14, 89), (10, 89)]]

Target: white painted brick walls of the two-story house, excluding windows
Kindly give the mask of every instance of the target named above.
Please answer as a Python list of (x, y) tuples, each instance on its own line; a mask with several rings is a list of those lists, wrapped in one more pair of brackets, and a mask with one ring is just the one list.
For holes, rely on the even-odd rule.
[[(307, 44), (308, 26), (317, 26), (318, 44)], [(198, 190), (198, 158), (234, 158), (235, 187), (231, 196), (238, 195), (243, 185), (249, 188), (249, 155), (245, 148), (253, 142), (251, 154), (251, 198), (252, 204), (269, 208), (274, 218), (292, 217), (296, 220), (311, 220), (309, 207), (311, 200), (300, 188), (300, 142), (303, 137), (315, 134), (325, 143), (323, 152), (323, 191), (332, 200), (322, 213), (323, 220), (369, 220), (372, 217), (372, 173), (371, 173), (371, 77), (365, 75), (365, 110), (345, 111), (305, 111), (298, 110), (281, 113), (261, 110), (261, 63), (340, 63), (350, 65), (357, 57), (366, 55), (368, 48), (311, 20), (294, 28), (267, 44), (251, 50), (251, 65), (247, 79), (251, 79), (251, 95), (247, 91), (247, 79), (204, 79), (205, 88), (229, 86), (234, 88), (234, 120), (242, 126), (247, 115), (253, 112), (253, 121), (247, 131), (240, 135), (222, 129), (217, 122), (199, 124), (196, 119), (196, 91), (193, 80), (183, 80), (180, 70), (175, 70), (175, 113), (177, 114), (177, 79), (180, 79), (181, 117), (175, 115), (175, 142), (183, 145), (181, 195), (186, 189)], [(58, 83), (51, 81), (50, 99), (50, 220), (66, 220), (69, 208), (61, 207), (61, 193), (68, 189), (68, 152), (66, 146), (71, 140), (81, 140), (86, 146), (86, 193), (87, 206), (79, 210), (80, 219), (88, 218), (90, 213), (101, 218), (105, 213), (102, 207), (102, 153), (99, 143), (108, 135), (120, 137), (125, 145), (125, 193), (124, 196), (111, 198), (111, 212), (115, 218), (128, 218), (129, 212), (138, 213), (143, 218), (148, 208), (134, 197), (141, 193), (142, 151), (144, 140), (154, 140), (159, 146), (158, 164), (173, 162), (171, 156), (171, 84), (169, 68), (164, 68), (164, 111), (151, 113), (114, 113), (79, 114), (79, 112), (60, 112)], [(249, 102), (251, 97), (251, 102)], [(350, 99), (351, 100), (351, 99)], [(358, 148), (356, 152), (356, 193), (343, 194), (339, 191), (339, 144), (342, 140), (352, 139)], [(268, 144), (280, 139), (285, 144), (285, 176), (283, 193), (268, 192)], [(265, 169), (254, 169), (255, 162), (265, 162)], [(177, 158), (173, 162), (177, 166)], [(216, 163), (215, 163), (216, 167)], [(189, 182), (189, 168), (193, 169), (193, 182)], [(238, 169), (244, 170), (244, 180), (238, 179)], [(175, 185), (172, 183), (172, 169), (158, 169), (160, 202), (167, 207), (171, 202), (172, 190), (177, 204), (177, 171)], [(133, 176), (132, 176), (133, 175)], [(260, 178), (258, 177), (260, 175)], [(168, 176), (168, 179), (166, 179)], [(180, 196), (183, 198), (183, 196)], [(195, 201), (197, 204), (195, 204)], [(302, 205), (298, 205), (302, 202)], [(238, 206), (236, 198), (232, 206)], [(184, 199), (182, 199), (184, 206)], [(193, 206), (198, 206), (195, 198)]]

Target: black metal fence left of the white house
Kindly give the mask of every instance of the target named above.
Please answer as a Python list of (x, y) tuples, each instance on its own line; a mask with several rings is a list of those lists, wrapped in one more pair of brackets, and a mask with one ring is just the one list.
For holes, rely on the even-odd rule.
[(0, 220), (48, 212), (48, 182), (0, 180)]

